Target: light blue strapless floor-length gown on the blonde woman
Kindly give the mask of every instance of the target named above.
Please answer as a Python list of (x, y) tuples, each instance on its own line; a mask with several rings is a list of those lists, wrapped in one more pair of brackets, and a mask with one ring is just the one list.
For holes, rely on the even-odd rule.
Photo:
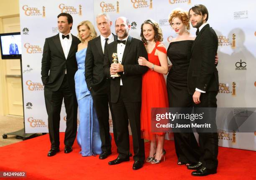
[(76, 53), (78, 70), (74, 76), (80, 125), (77, 133), (77, 143), (81, 147), (82, 156), (101, 153), (99, 122), (93, 108), (92, 95), (87, 88), (84, 77), (84, 60), (86, 49)]

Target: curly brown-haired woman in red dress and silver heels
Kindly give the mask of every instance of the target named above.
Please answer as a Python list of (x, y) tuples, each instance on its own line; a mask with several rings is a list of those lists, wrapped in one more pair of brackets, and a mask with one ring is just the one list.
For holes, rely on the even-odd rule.
[[(166, 48), (161, 43), (163, 34), (159, 24), (146, 20), (141, 25), (141, 38), (148, 52), (148, 61), (138, 59), (139, 65), (147, 66), (142, 77), (141, 132), (144, 139), (150, 140), (150, 150), (146, 162), (160, 163), (165, 155), (165, 133), (151, 132), (151, 107), (169, 107), (164, 75), (168, 72)], [(156, 146), (156, 139), (158, 141)]]

